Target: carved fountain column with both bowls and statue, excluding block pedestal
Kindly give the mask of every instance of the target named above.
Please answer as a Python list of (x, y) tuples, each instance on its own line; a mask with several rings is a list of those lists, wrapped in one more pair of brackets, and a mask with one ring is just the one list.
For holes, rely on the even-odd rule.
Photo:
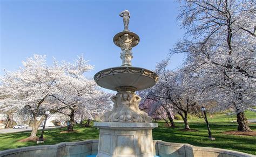
[[(120, 13), (120, 16), (123, 17), (124, 31), (117, 33), (113, 42), (121, 48), (122, 66), (100, 71), (94, 77), (98, 85), (118, 91), (111, 98), (114, 103), (113, 110), (106, 112), (101, 119), (108, 122), (151, 122), (151, 117), (146, 112), (139, 110), (141, 98), (134, 94), (134, 91), (153, 86), (158, 81), (158, 76), (152, 71), (132, 67), (131, 59), (133, 56), (131, 51), (132, 47), (138, 45), (139, 36), (128, 29), (130, 12), (124, 10)], [(111, 82), (112, 80), (113, 82)], [(147, 83), (144, 83), (144, 80)], [(140, 85), (141, 83), (144, 85)]]

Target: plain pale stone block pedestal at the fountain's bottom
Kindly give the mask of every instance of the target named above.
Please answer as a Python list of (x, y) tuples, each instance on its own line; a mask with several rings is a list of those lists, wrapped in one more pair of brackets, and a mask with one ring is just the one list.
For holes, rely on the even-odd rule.
[(98, 157), (153, 156), (152, 122), (95, 122), (100, 129)]

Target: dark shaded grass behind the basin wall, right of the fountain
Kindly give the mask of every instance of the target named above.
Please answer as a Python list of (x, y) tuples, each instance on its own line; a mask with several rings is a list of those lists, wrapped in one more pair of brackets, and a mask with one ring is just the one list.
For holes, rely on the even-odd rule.
[(153, 139), (256, 154), (255, 136), (226, 135), (222, 133), (224, 131), (236, 130), (237, 125), (235, 124), (210, 124), (212, 135), (216, 139), (213, 141), (208, 139), (208, 130), (204, 123), (190, 125), (191, 128), (199, 130), (198, 132), (179, 131), (181, 127), (184, 127), (183, 123), (176, 122), (176, 125), (177, 127), (173, 129), (163, 127), (164, 125), (159, 123), (159, 127), (153, 129)]

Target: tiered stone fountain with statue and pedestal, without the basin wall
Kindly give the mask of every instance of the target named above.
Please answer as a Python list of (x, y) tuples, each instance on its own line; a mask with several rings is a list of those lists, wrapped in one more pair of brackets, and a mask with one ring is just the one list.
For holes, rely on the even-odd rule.
[(129, 31), (130, 12), (120, 13), (124, 21), (124, 31), (113, 38), (121, 47), (122, 65), (102, 70), (95, 74), (96, 83), (104, 88), (117, 91), (111, 100), (113, 110), (95, 122), (100, 129), (98, 157), (102, 156), (153, 156), (152, 129), (157, 127), (146, 112), (139, 110), (141, 98), (136, 91), (154, 86), (158, 80), (156, 73), (131, 65), (132, 47), (139, 44), (139, 36)]

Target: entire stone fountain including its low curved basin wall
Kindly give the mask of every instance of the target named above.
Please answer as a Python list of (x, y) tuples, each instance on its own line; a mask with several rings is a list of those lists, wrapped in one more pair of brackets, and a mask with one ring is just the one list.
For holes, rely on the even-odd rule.
[[(121, 47), (122, 65), (102, 70), (95, 74), (99, 86), (117, 91), (111, 100), (113, 110), (106, 112), (103, 122), (95, 122), (100, 129), (98, 140), (61, 142), (56, 145), (42, 145), (8, 149), (0, 156), (255, 156), (227, 149), (197, 147), (152, 140), (152, 129), (157, 127), (147, 113), (139, 110), (141, 98), (136, 91), (150, 88), (156, 84), (156, 73), (131, 65), (132, 47), (138, 45), (139, 36), (129, 31), (130, 12), (120, 13), (124, 19), (124, 31), (113, 38), (114, 44)], [(98, 149), (97, 149), (98, 148)]]

